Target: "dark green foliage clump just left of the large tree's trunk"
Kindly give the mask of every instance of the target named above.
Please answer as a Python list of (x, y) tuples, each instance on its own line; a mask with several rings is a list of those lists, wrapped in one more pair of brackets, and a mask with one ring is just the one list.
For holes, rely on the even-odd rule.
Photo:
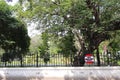
[(60, 49), (61, 54), (65, 57), (76, 53), (76, 48), (74, 46), (74, 35), (71, 32), (68, 32), (61, 38)]

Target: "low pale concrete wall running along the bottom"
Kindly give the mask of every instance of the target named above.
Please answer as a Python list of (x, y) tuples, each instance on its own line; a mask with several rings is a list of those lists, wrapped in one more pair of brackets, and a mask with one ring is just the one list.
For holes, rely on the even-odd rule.
[(0, 68), (0, 80), (120, 80), (120, 67)]

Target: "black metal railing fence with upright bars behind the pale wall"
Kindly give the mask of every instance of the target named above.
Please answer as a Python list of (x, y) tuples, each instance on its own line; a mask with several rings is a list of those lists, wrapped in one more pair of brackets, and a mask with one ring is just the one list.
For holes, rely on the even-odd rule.
[[(94, 63), (87, 64), (84, 66), (97, 66), (96, 55), (94, 55)], [(47, 63), (44, 62), (44, 58), (38, 54), (26, 55), (21, 60), (14, 59), (9, 62), (0, 62), (0, 67), (71, 67), (73, 64), (74, 56), (69, 55), (68, 57), (62, 54), (50, 55), (50, 59)], [(100, 54), (100, 65), (101, 66), (119, 66), (120, 55), (119, 54)]]

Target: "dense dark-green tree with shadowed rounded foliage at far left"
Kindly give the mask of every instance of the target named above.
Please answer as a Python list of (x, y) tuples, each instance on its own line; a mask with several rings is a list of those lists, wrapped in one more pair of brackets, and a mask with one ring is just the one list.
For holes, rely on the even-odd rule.
[(2, 59), (6, 62), (21, 58), (29, 50), (30, 38), (25, 23), (12, 17), (10, 6), (4, 0), (0, 6), (0, 47), (5, 51)]

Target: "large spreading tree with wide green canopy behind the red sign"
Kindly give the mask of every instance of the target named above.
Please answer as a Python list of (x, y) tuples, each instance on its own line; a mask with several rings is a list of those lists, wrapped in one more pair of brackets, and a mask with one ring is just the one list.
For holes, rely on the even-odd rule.
[(100, 66), (99, 44), (112, 38), (111, 31), (120, 29), (119, 5), (118, 0), (30, 0), (27, 7), (42, 28), (52, 30), (50, 33), (60, 36), (72, 31), (81, 46), (82, 61), (87, 52), (96, 50)]

